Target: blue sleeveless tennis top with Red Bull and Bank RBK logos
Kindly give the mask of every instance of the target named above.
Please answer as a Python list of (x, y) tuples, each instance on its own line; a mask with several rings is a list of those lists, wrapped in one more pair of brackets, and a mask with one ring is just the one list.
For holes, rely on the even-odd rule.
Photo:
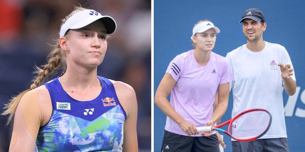
[(44, 84), (51, 96), (53, 112), (49, 122), (39, 129), (36, 151), (122, 151), (126, 112), (113, 84), (98, 78), (102, 92), (91, 101), (70, 97), (58, 78)]

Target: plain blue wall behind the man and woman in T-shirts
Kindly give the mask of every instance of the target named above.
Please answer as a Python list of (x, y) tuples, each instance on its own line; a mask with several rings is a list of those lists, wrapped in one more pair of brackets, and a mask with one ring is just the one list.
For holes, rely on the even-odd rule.
[[(288, 51), (296, 73), (296, 93), (288, 96), (283, 92), (285, 121), (289, 149), (292, 152), (305, 151), (305, 1), (154, 1), (154, 92), (165, 74), (170, 61), (178, 54), (192, 49), (190, 36), (196, 22), (211, 20), (221, 33), (213, 52), (226, 56), (228, 52), (247, 43), (239, 21), (249, 8), (259, 8), (266, 16), (265, 41), (281, 44)], [(266, 84), (268, 85), (268, 84)], [(232, 94), (228, 110), (222, 122), (231, 118)], [(154, 105), (154, 151), (160, 151), (166, 116)], [(224, 135), (231, 151), (231, 138)]]

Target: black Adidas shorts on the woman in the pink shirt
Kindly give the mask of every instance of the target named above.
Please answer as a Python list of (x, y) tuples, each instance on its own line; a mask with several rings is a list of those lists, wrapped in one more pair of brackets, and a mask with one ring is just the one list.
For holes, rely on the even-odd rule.
[(205, 137), (183, 136), (164, 131), (163, 152), (220, 152), (216, 134)]

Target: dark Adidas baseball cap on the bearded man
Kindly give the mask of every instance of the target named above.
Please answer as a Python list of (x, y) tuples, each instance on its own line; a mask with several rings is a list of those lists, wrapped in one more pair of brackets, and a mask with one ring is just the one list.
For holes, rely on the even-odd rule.
[[(260, 9), (247, 9), (242, 15), (242, 20), (244, 19), (254, 19), (257, 22), (265, 22), (265, 15)], [(241, 23), (242, 20), (240, 20), (239, 23)]]

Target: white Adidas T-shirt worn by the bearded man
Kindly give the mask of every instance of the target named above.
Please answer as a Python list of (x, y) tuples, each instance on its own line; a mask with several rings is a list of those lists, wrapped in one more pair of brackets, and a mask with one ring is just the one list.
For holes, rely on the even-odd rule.
[[(285, 47), (266, 41), (265, 44), (260, 52), (250, 51), (244, 44), (226, 56), (234, 77), (230, 82), (234, 102), (232, 118), (248, 109), (266, 109), (272, 116), (271, 126), (259, 139), (287, 138), (278, 63), (293, 66)], [(291, 78), (296, 81), (292, 73)]]

